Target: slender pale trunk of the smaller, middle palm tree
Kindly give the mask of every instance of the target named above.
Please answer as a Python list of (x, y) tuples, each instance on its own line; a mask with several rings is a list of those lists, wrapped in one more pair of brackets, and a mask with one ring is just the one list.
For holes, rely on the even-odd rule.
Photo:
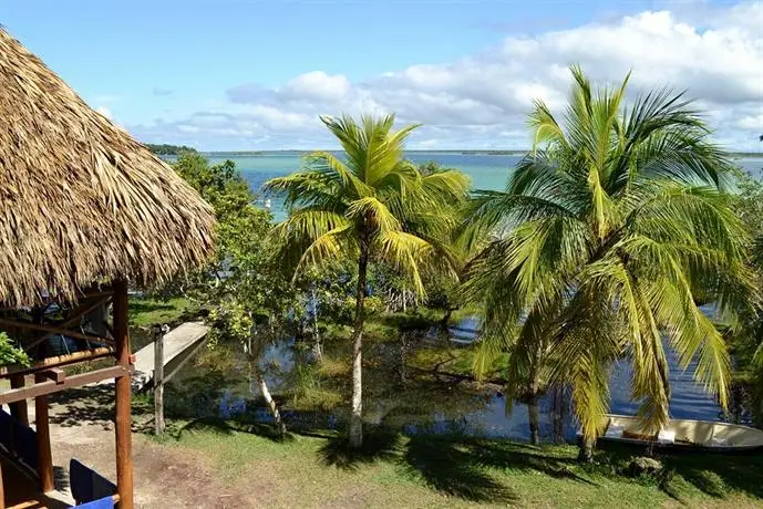
[(350, 415), (350, 447), (359, 448), (363, 445), (363, 322), (365, 307), (365, 276), (369, 264), (369, 248), (361, 242), (358, 259), (358, 292), (355, 294), (355, 323), (352, 333), (352, 414)]

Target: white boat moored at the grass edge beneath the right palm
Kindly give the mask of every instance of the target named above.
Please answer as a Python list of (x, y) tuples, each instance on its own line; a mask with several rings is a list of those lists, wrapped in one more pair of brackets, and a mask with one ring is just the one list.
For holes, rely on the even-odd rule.
[(763, 430), (740, 424), (671, 419), (659, 433), (648, 435), (638, 417), (607, 414), (604, 418), (607, 427), (600, 440), (719, 453), (763, 448)]

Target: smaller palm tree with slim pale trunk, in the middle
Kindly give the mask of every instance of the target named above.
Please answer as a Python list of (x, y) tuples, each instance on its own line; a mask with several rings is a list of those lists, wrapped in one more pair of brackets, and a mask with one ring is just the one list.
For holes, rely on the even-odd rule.
[(362, 339), (369, 263), (390, 263), (424, 294), (422, 271), (450, 270), (447, 239), (453, 215), (441, 214), (466, 199), (468, 179), (460, 172), (423, 176), (403, 159), (410, 125), (393, 132), (394, 116), (321, 117), (337, 137), (344, 157), (313, 154), (306, 167), (266, 184), (290, 208), (278, 225), (287, 252), (297, 253), (300, 268), (331, 263), (341, 257), (357, 261), (358, 288), (352, 351), (352, 413), (350, 445), (362, 445)]

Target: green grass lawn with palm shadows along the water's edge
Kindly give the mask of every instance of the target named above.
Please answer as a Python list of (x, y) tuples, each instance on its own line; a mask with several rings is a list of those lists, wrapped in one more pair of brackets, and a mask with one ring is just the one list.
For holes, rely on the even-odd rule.
[(627, 449), (580, 465), (569, 445), (375, 432), (352, 456), (328, 432), (281, 443), (267, 428), (198, 423), (162, 442), (210, 460), (228, 486), (251, 486), (256, 507), (763, 506), (760, 456), (661, 457), (664, 474), (631, 478)]

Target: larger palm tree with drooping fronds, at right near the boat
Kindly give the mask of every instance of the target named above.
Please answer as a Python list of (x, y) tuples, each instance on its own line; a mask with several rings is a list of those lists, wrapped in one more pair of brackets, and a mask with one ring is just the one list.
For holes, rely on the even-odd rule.
[[(698, 301), (730, 316), (752, 293), (745, 233), (728, 206), (729, 160), (683, 94), (625, 107), (628, 77), (591, 89), (577, 66), (564, 122), (540, 101), (534, 148), (504, 193), (478, 193), (466, 291), (485, 307), (475, 367), (508, 352), (514, 386), (569, 383), (589, 457), (608, 408), (608, 368), (630, 360), (645, 433), (669, 419), (663, 337), (726, 404), (730, 359)], [(537, 428), (537, 423), (534, 424)]]

